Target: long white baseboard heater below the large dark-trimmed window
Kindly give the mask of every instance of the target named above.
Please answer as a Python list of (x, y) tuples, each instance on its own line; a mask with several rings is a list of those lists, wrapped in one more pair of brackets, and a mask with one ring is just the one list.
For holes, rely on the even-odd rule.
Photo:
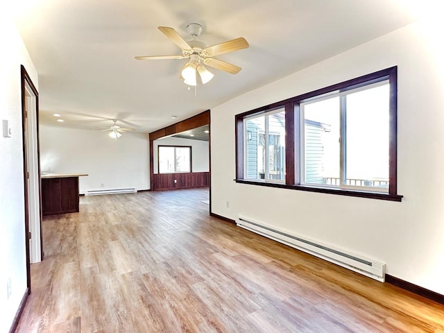
[(343, 250), (334, 249), (326, 244), (298, 237), (294, 234), (282, 232), (276, 228), (239, 216), (237, 225), (246, 230), (250, 230), (264, 237), (274, 239), (282, 244), (291, 246), (305, 253), (327, 260), (339, 266), (350, 269), (357, 273), (368, 276), (380, 282), (384, 282), (386, 273), (386, 264), (375, 262), (374, 260), (357, 257)]

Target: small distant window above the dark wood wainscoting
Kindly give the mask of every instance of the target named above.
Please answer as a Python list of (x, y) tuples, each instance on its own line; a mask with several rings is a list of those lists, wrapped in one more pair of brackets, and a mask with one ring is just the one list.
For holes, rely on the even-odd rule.
[(191, 172), (191, 146), (158, 146), (159, 173)]

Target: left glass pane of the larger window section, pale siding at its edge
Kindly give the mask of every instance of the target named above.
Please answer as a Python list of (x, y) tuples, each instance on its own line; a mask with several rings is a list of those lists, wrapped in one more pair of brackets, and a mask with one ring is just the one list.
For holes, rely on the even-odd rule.
[(317, 185), (340, 183), (339, 96), (303, 105), (304, 182)]

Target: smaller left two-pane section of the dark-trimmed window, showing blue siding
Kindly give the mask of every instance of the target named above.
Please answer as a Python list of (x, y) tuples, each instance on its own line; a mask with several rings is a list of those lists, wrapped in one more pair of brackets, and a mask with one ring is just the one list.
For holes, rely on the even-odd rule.
[(244, 121), (244, 178), (285, 180), (285, 110), (246, 117)]

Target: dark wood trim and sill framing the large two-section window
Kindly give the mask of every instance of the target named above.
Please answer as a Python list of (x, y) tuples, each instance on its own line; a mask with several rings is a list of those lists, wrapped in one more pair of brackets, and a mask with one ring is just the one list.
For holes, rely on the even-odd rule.
[[(330, 85), (322, 89), (317, 89), (314, 92), (308, 92), (291, 99), (272, 103), (270, 105), (262, 106), (254, 110), (237, 114), (234, 118), (235, 121), (235, 139), (236, 139), (236, 182), (259, 185), (267, 187), (280, 187), (284, 189), (296, 189), (300, 191), (312, 191), (325, 194), (338, 194), (342, 196), (357, 196), (361, 198), (374, 198), (381, 200), (401, 201), (402, 196), (397, 192), (397, 70), (398, 67), (390, 67), (375, 73), (360, 76), (352, 80), (347, 80), (336, 85)], [(346, 92), (351, 89), (356, 89), (371, 83), (377, 83), (382, 80), (389, 80), (390, 82), (390, 120), (389, 120), (389, 165), (388, 165), (388, 178), (389, 187), (388, 194), (361, 191), (361, 190), (349, 190), (349, 189), (336, 189), (325, 187), (311, 187), (307, 185), (300, 185), (300, 103), (314, 99), (320, 95), (328, 94), (332, 92)], [(285, 164), (286, 164), (286, 180), (285, 184), (263, 182), (260, 180), (245, 180), (244, 179), (244, 118), (253, 114), (262, 114), (269, 112), (276, 108), (285, 108), (285, 130), (286, 130), (286, 151), (285, 151)]]

